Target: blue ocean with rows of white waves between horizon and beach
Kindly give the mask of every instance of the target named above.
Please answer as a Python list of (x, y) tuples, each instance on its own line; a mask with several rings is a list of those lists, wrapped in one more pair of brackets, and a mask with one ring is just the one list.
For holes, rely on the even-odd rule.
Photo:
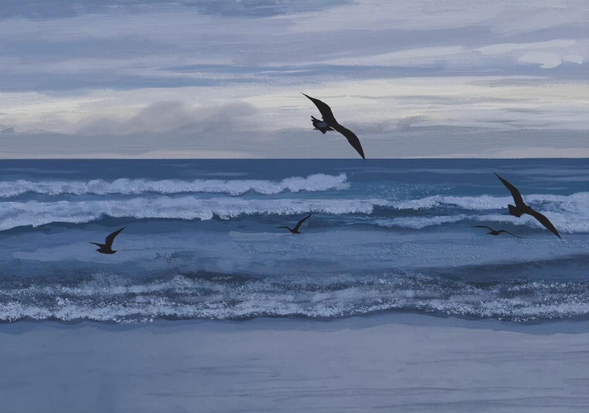
[[(562, 239), (508, 215), (493, 172)], [(586, 158), (2, 160), (0, 179), (0, 322), (589, 316)], [(89, 244), (122, 227), (117, 254)]]

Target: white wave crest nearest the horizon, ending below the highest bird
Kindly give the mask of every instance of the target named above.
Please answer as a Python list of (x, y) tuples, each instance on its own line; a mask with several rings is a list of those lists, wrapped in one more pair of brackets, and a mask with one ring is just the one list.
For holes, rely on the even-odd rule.
[(91, 181), (41, 181), (32, 182), (22, 179), (16, 181), (0, 181), (0, 197), (9, 198), (33, 192), (46, 195), (108, 195), (108, 194), (143, 194), (144, 192), (156, 192), (159, 194), (181, 194), (207, 192), (210, 194), (241, 195), (248, 191), (259, 194), (279, 194), (280, 192), (317, 192), (329, 189), (348, 189), (346, 174), (325, 175), (314, 174), (306, 178), (293, 176), (282, 181), (264, 181), (256, 179), (233, 179), (223, 181), (221, 179), (195, 179), (194, 181), (181, 181), (180, 179), (163, 179), (151, 181), (150, 179), (115, 179), (112, 182), (93, 179)]

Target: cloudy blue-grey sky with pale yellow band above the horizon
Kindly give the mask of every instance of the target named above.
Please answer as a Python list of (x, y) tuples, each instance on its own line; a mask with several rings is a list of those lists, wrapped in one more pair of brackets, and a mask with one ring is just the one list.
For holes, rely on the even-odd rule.
[(0, 1), (0, 158), (589, 156), (585, 0)]

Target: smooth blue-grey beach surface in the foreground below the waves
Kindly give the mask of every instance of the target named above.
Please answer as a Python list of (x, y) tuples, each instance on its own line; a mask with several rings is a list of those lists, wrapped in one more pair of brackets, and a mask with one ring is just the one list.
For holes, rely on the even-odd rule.
[(2, 412), (586, 412), (589, 322), (0, 325)]

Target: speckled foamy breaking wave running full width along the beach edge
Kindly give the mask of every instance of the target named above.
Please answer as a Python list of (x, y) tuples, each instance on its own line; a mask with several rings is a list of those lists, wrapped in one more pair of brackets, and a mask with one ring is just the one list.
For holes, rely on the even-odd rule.
[(137, 284), (113, 274), (77, 281), (19, 280), (0, 295), (0, 320), (141, 322), (153, 318), (346, 317), (418, 311), (523, 322), (586, 317), (589, 283), (510, 279), (475, 283), (422, 274), (247, 278), (176, 275)]

